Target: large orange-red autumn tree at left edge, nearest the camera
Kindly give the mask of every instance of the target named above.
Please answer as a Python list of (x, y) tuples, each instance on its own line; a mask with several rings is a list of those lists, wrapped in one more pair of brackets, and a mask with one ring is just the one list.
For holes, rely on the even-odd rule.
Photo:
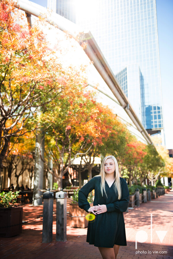
[[(64, 70), (44, 33), (13, 1), (0, 2), (0, 170), (12, 137), (37, 128), (38, 108), (64, 89)], [(63, 81), (63, 83), (62, 83)]]

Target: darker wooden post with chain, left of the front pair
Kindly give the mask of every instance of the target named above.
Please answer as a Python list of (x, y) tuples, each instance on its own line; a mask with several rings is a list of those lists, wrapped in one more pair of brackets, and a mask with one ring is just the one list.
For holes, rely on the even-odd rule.
[(42, 243), (49, 243), (52, 241), (53, 228), (53, 205), (54, 193), (49, 190), (43, 193), (43, 232)]

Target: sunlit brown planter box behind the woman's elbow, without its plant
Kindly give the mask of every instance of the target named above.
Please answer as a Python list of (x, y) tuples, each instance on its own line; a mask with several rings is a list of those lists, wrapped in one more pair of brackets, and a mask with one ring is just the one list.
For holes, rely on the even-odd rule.
[[(93, 203), (90, 204), (93, 206)], [(70, 203), (69, 206), (69, 216), (84, 216), (81, 218), (72, 218), (69, 217), (69, 226), (75, 228), (86, 228), (88, 226), (88, 221), (85, 219), (87, 213), (85, 210), (79, 208), (78, 203)]]

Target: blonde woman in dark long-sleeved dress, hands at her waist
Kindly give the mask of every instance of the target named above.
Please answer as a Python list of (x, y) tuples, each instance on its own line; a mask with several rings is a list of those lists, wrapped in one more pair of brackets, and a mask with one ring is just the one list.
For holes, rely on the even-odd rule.
[[(87, 197), (92, 190), (95, 195), (90, 207)], [(78, 203), (95, 215), (95, 221), (88, 222), (86, 241), (98, 247), (103, 259), (116, 259), (119, 246), (127, 245), (123, 212), (129, 204), (129, 190), (126, 180), (119, 177), (114, 156), (105, 157), (100, 174), (80, 189)]]

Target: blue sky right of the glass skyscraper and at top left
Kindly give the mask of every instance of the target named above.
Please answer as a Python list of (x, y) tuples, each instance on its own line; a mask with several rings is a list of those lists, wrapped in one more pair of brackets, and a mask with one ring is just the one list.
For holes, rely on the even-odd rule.
[[(47, 7), (47, 0), (32, 0)], [(156, 0), (166, 148), (173, 149), (173, 0)]]

